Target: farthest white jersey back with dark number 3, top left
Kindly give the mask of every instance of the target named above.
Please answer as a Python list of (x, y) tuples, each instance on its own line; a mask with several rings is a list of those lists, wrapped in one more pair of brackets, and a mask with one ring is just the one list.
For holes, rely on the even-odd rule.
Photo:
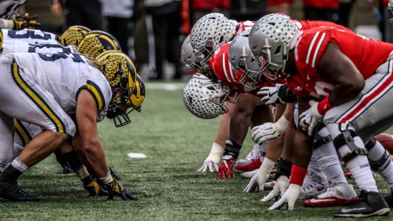
[(19, 40), (26, 41), (29, 44), (60, 44), (60, 42), (57, 41), (59, 38), (57, 35), (37, 29), (1, 29), (1, 31), (3, 32), (3, 41)]

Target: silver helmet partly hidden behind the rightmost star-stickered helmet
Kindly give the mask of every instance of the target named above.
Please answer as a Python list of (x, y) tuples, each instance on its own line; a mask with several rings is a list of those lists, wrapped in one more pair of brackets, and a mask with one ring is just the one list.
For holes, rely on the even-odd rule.
[(239, 82), (251, 90), (257, 88), (257, 81), (261, 75), (261, 67), (258, 59), (252, 55), (248, 45), (250, 30), (242, 31), (229, 46), (229, 61), (233, 67), (233, 73), (242, 71)]

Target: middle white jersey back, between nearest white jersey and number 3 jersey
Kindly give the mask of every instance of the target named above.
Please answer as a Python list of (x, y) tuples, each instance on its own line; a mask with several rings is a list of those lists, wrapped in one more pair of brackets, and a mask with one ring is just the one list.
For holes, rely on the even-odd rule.
[(26, 41), (19, 40), (7, 40), (3, 42), (2, 49), (0, 50), (0, 54), (6, 55), (10, 53), (80, 53), (76, 46), (62, 46), (61, 44), (29, 44)]

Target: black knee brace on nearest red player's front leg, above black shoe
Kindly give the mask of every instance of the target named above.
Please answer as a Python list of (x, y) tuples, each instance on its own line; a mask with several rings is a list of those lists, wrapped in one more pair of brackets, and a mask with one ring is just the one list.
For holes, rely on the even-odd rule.
[(367, 155), (367, 153), (368, 153), (367, 149), (362, 149), (354, 143), (353, 138), (355, 136), (358, 136), (358, 135), (356, 135), (356, 133), (354, 131), (344, 130), (344, 131), (342, 131), (341, 134), (339, 134), (338, 136), (336, 136), (333, 139), (333, 144), (334, 144), (334, 147), (336, 147), (337, 151), (343, 145), (348, 145), (349, 149), (351, 150), (351, 152), (349, 154), (347, 154), (345, 156), (341, 156), (342, 160), (345, 164), (347, 164), (349, 161), (351, 161), (356, 156)]

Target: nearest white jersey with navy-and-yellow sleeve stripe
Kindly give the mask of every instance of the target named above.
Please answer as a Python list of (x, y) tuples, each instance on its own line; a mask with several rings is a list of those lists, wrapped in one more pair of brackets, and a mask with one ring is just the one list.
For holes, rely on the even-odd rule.
[(100, 70), (77, 53), (13, 53), (18, 66), (32, 81), (50, 92), (68, 114), (75, 113), (77, 97), (87, 89), (96, 101), (97, 121), (105, 118), (112, 91)]

